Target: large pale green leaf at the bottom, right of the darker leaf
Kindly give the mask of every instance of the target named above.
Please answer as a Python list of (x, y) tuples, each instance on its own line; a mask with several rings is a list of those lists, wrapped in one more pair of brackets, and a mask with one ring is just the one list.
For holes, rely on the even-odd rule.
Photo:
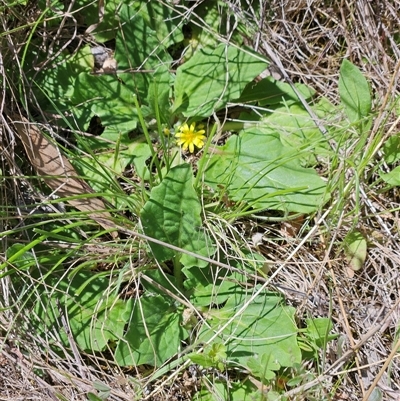
[(243, 313), (235, 317), (250, 297), (251, 294), (237, 287), (223, 308), (211, 309), (199, 332), (200, 341), (208, 341), (227, 324), (214, 341), (226, 346), (228, 363), (245, 365), (249, 358), (262, 354), (270, 358), (270, 367), (293, 366), (300, 362), (295, 309), (281, 305), (280, 296), (265, 293), (254, 298)]

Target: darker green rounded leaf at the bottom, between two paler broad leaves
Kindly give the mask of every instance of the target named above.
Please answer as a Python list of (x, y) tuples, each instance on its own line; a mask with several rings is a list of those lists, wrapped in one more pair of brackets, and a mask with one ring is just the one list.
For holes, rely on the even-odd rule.
[(121, 366), (160, 366), (179, 351), (181, 341), (188, 336), (181, 323), (182, 313), (170, 299), (141, 297), (124, 339), (118, 343), (115, 360)]

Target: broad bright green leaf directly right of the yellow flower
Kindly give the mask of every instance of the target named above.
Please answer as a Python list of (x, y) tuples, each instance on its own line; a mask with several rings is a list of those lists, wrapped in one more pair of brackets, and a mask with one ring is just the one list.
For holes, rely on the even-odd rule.
[(249, 128), (217, 149), (205, 182), (225, 186), (230, 199), (255, 209), (311, 213), (325, 199), (326, 185), (300, 165), (301, 152), (285, 147), (278, 133)]

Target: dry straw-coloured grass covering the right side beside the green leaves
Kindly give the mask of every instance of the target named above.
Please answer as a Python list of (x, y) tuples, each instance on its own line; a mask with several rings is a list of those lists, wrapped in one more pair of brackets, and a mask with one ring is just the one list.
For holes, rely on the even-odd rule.
[[(275, 53), (292, 81), (307, 83), (333, 102), (338, 101), (343, 57), (356, 64), (374, 93), (377, 115), (371, 143), (378, 132), (387, 137), (399, 128), (397, 116), (387, 107), (400, 91), (399, 9), (398, 1), (273, 2), (269, 11), (273, 22), (263, 24), (260, 50), (263, 44), (268, 46), (266, 54)], [(373, 163), (365, 177), (371, 174)], [(335, 226), (331, 216), (315, 222), (318, 228), (310, 238), (311, 246), (306, 243), (292, 254), (295, 242), (280, 251), (285, 267), (279, 278), (286, 287), (310, 294), (308, 303), (314, 303), (304, 303), (304, 308), (312, 316), (331, 315), (336, 332), (341, 333), (344, 342), (328, 350), (320, 377), (332, 384), (340, 378), (336, 399), (367, 400), (377, 387), (383, 399), (398, 400), (399, 198), (397, 191), (377, 193), (368, 181), (363, 189), (360, 208), (354, 190)], [(359, 219), (369, 251), (363, 269), (349, 277), (337, 243), (352, 219)]]

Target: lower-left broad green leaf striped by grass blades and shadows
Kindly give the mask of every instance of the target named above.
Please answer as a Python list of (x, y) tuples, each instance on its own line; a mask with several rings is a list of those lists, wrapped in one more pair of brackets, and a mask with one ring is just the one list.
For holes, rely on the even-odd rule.
[[(39, 332), (45, 327), (60, 333), (69, 344), (65, 327), (60, 323), (60, 305), (78, 347), (103, 351), (109, 341), (118, 341), (129, 318), (132, 302), (118, 299), (109, 291), (109, 278), (80, 271), (72, 279), (58, 279), (52, 274), (46, 286), (39, 286), (42, 299), (36, 302), (39, 321), (33, 321)], [(49, 292), (48, 289), (53, 289)]]

